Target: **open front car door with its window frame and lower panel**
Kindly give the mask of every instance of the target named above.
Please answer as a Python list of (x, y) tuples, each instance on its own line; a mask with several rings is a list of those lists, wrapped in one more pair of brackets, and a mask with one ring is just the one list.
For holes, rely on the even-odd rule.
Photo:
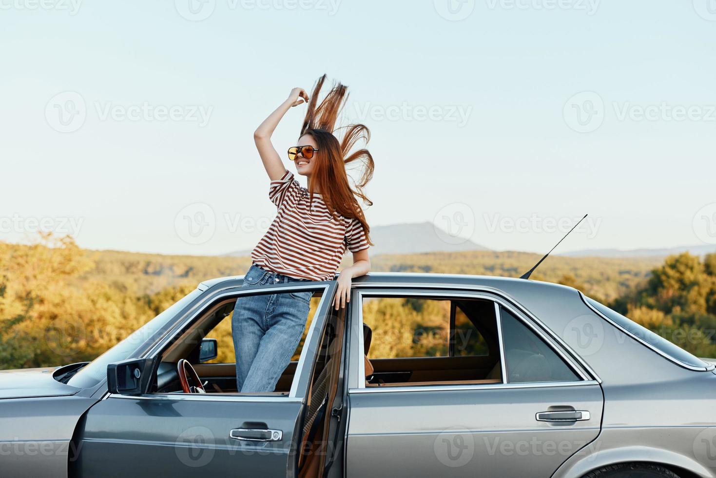
[[(71, 476), (296, 476), (306, 401), (335, 287), (335, 282), (270, 287), (272, 293), (308, 289), (321, 295), (287, 396), (109, 393), (78, 426), (79, 459), (70, 465)], [(266, 288), (220, 289), (202, 307), (207, 310), (226, 297), (256, 293), (266, 293)]]

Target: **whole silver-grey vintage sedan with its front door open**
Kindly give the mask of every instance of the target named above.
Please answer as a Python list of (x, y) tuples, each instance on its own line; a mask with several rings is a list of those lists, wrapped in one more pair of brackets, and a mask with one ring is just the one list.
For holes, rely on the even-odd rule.
[[(335, 310), (335, 281), (265, 282), (203, 282), (90, 363), (0, 372), (0, 475), (716, 477), (713, 363), (577, 290), (374, 273)], [(238, 393), (237, 298), (306, 290), (276, 390)]]

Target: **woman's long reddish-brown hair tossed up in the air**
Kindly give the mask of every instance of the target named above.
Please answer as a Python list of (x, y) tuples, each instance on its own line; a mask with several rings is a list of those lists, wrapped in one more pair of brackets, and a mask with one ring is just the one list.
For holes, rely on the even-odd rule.
[[(336, 128), (336, 121), (348, 98), (348, 87), (340, 83), (334, 84), (326, 97), (318, 103), (319, 92), (325, 80), (326, 75), (323, 75), (316, 81), (309, 98), (304, 125), (301, 128), (301, 136), (310, 135), (314, 138), (319, 150), (319, 161), (316, 161), (314, 171), (311, 173), (309, 188), (311, 192), (320, 191), (332, 215), (339, 214), (349, 219), (357, 219), (363, 226), (368, 244), (372, 245), (369, 236), (370, 226), (365, 220), (358, 199), (367, 206), (373, 204), (363, 192), (363, 188), (373, 177), (373, 157), (366, 148), (352, 151), (359, 141), (368, 143), (370, 131), (366, 125), (360, 124)], [(334, 135), (339, 130), (342, 130), (340, 141)], [(346, 166), (350, 163), (362, 163), (363, 171), (354, 187), (351, 187), (346, 172)]]

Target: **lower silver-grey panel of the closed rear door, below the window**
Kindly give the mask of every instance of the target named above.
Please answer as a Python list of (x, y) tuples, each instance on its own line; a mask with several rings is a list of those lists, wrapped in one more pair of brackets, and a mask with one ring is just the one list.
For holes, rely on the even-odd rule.
[[(596, 439), (602, 403), (595, 382), (350, 393), (347, 476), (549, 477)], [(555, 406), (590, 418), (536, 420)]]

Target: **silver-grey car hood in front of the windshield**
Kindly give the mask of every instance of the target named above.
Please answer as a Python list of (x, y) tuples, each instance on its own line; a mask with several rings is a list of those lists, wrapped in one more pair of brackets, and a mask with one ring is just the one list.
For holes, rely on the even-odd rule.
[(0, 371), (0, 399), (74, 395), (79, 388), (52, 377), (57, 367)]

